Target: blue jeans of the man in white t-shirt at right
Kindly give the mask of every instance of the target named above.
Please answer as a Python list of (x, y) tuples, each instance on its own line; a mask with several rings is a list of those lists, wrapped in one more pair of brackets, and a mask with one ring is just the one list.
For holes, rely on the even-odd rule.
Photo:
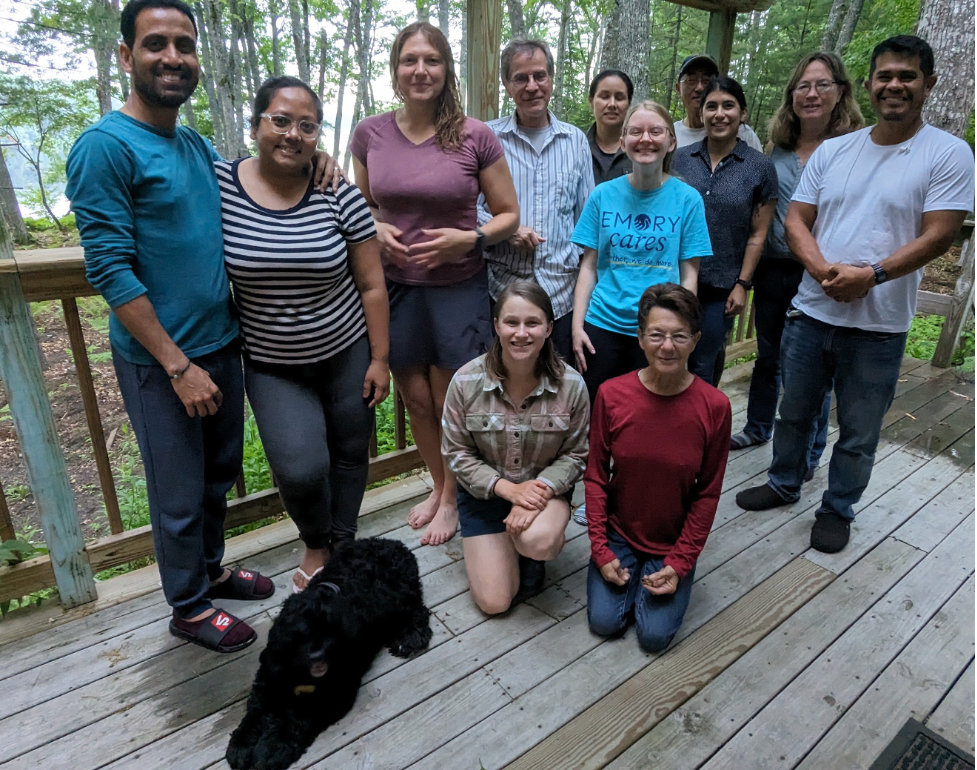
[(872, 476), (882, 418), (899, 380), (906, 332), (870, 332), (787, 314), (780, 368), (784, 397), (773, 433), (770, 487), (787, 502), (800, 497), (811, 425), (834, 382), (838, 441), (820, 512), (854, 519), (853, 507)]

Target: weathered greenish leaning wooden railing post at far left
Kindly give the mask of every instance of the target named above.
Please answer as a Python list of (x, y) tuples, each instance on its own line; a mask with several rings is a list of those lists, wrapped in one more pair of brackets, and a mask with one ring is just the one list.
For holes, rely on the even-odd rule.
[(61, 603), (74, 607), (95, 601), (98, 593), (27, 307), (7, 228), (0, 222), (0, 379), (7, 391)]

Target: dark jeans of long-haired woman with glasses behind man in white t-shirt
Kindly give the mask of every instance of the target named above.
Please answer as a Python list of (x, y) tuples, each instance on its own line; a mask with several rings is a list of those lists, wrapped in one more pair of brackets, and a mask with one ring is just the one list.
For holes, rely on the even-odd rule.
[[(773, 436), (773, 422), (780, 398), (780, 341), (790, 302), (804, 277), (804, 268), (792, 259), (765, 259), (753, 277), (753, 307), (757, 358), (750, 378), (750, 401), (746, 408), (743, 432), (760, 441)], [(821, 415), (814, 426), (808, 465), (816, 467), (828, 440), (831, 414), (830, 388), (824, 397)]]

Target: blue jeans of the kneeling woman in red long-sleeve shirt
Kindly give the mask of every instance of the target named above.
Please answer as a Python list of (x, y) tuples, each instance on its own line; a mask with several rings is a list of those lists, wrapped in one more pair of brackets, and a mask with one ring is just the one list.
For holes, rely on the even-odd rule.
[(590, 630), (601, 636), (614, 636), (627, 628), (634, 610), (638, 644), (646, 652), (661, 652), (671, 643), (692, 595), (693, 569), (678, 582), (674, 594), (655, 596), (641, 585), (644, 575), (658, 572), (665, 566), (662, 557), (636, 553), (617, 532), (607, 528), (607, 544), (621, 560), (621, 566), (631, 571), (631, 579), (623, 586), (604, 580), (600, 568), (590, 562), (587, 573), (587, 622)]

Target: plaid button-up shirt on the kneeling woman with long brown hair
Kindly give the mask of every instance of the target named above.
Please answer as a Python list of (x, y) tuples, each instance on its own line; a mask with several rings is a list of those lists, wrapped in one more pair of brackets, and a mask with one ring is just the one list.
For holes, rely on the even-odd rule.
[(544, 375), (514, 404), (479, 356), (451, 378), (441, 428), (441, 454), (475, 497), (491, 497), (500, 478), (539, 479), (562, 495), (587, 467), (590, 399), (583, 377), (567, 366), (559, 382)]

